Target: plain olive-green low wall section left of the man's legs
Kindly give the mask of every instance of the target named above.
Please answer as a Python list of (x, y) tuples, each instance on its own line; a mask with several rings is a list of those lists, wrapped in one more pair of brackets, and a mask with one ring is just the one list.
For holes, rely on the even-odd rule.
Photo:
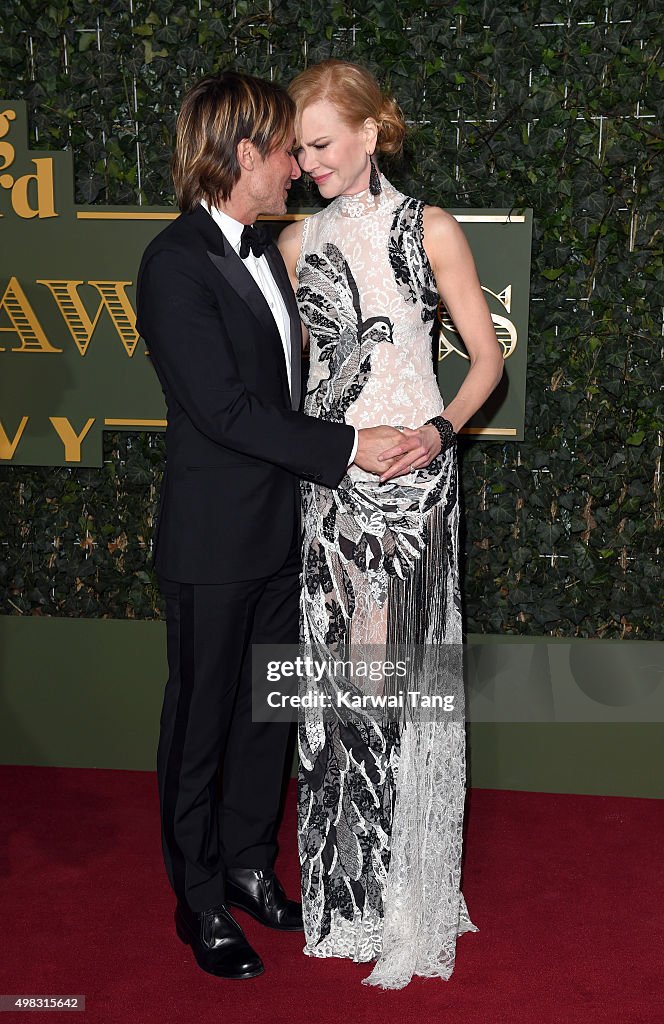
[(0, 618), (4, 764), (152, 769), (165, 625)]

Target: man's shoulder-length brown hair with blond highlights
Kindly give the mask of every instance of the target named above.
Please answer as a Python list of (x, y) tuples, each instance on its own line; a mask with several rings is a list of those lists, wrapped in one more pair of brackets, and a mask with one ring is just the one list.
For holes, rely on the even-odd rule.
[(192, 86), (177, 116), (171, 164), (180, 210), (201, 200), (225, 201), (241, 167), (238, 143), (247, 138), (265, 158), (293, 136), (295, 104), (285, 89), (262, 78), (225, 71)]

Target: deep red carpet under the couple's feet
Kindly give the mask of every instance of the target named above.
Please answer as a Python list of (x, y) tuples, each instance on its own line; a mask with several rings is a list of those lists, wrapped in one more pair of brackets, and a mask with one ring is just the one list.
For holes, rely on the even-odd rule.
[[(449, 982), (400, 992), (309, 959), (238, 912), (265, 974), (203, 974), (172, 928), (150, 774), (0, 768), (0, 993), (84, 994), (86, 1024), (659, 1024), (664, 803), (472, 791), (464, 890), (478, 935)], [(297, 888), (294, 800), (279, 871)], [(2, 1020), (17, 1020), (8, 1013)]]

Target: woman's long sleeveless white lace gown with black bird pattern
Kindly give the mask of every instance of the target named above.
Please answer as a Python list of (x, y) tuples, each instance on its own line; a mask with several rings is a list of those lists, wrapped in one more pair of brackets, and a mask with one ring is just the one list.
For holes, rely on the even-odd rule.
[[(304, 221), (304, 412), (416, 427), (443, 407), (431, 357), (439, 295), (424, 204), (381, 183), (378, 197), (342, 196)], [(418, 688), (462, 700), (456, 450), (386, 484), (356, 466), (336, 489), (303, 481), (302, 509), (307, 652), (334, 659), (347, 645), (384, 656), (396, 644), (449, 644), (447, 678), (429, 672)], [(413, 975), (449, 978), (457, 935), (476, 930), (460, 892), (462, 718), (336, 718), (313, 708), (298, 740), (304, 952), (376, 961), (365, 983), (383, 988)]]

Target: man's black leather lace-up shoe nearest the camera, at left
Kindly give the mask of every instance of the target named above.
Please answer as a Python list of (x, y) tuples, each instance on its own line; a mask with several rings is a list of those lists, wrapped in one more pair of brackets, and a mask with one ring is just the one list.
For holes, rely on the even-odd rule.
[(260, 956), (223, 904), (197, 913), (178, 902), (175, 930), (192, 947), (198, 966), (208, 974), (238, 980), (263, 973)]

